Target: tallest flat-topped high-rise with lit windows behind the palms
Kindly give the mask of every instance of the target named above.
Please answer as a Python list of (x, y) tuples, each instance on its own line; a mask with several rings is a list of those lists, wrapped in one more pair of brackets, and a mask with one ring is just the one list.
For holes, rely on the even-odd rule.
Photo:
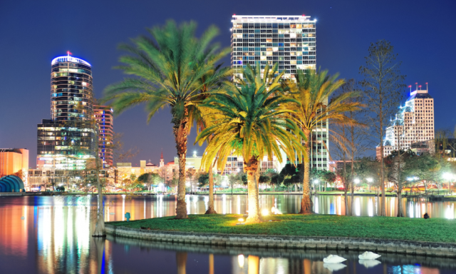
[[(316, 69), (316, 20), (310, 16), (232, 16), (232, 68), (242, 78), (247, 64), (279, 64), (284, 78), (298, 70)], [(312, 133), (311, 167), (328, 169), (328, 123)]]

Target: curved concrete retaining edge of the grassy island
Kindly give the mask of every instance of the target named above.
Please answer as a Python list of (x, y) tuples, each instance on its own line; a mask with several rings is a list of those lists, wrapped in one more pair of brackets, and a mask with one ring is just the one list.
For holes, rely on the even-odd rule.
[(190, 233), (181, 231), (145, 230), (109, 224), (106, 224), (105, 228), (106, 234), (108, 235), (169, 243), (268, 249), (368, 250), (380, 253), (456, 257), (456, 243), (347, 237)]

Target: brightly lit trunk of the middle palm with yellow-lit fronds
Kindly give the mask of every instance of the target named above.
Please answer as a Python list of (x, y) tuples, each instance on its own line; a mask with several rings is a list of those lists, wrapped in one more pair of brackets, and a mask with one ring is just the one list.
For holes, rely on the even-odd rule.
[(249, 201), (249, 217), (245, 220), (245, 223), (261, 223), (261, 215), (259, 212), (258, 202), (258, 183), (257, 183), (257, 171), (258, 171), (258, 160), (252, 156), (249, 163), (244, 161), (244, 169), (247, 171), (247, 191)]

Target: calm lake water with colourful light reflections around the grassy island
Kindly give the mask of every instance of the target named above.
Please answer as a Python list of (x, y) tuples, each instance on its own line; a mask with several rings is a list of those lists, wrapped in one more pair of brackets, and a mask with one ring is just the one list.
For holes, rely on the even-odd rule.
[[(260, 196), (261, 206), (295, 213), (299, 196)], [(207, 196), (188, 196), (189, 213), (204, 213)], [(343, 265), (324, 265), (326, 251), (259, 250), (173, 245), (108, 237), (93, 239), (96, 196), (0, 198), (0, 273), (456, 273), (456, 260), (383, 255), (362, 262), (358, 253), (338, 253)], [(105, 220), (174, 215), (175, 196), (108, 196)], [(318, 213), (344, 214), (343, 197), (319, 196)], [(454, 218), (454, 203), (403, 201), (407, 215)], [(218, 213), (245, 213), (246, 196), (216, 196)], [(395, 198), (387, 198), (395, 215)], [(373, 197), (356, 197), (356, 215), (376, 215)], [(24, 217), (24, 218), (21, 218)], [(336, 253), (336, 252), (331, 252)], [(338, 268), (341, 268), (338, 270)]]

